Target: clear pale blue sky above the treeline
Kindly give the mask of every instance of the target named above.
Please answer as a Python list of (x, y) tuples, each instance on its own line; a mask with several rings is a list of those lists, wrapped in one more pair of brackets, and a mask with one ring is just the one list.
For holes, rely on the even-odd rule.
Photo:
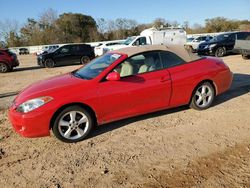
[(218, 16), (250, 20), (250, 0), (0, 0), (0, 21), (16, 20), (20, 25), (27, 18), (38, 19), (52, 8), (58, 15), (65, 12), (82, 13), (94, 19), (134, 19), (150, 23), (155, 18), (190, 25), (204, 25), (206, 18)]

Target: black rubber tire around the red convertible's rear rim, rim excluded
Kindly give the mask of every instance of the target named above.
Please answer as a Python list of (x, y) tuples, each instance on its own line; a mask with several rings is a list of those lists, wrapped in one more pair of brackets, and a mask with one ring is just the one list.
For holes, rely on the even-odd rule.
[[(209, 102), (209, 104), (208, 105), (206, 105), (205, 107), (200, 107), (200, 106), (198, 106), (197, 104), (196, 104), (196, 99), (195, 99), (195, 93), (196, 93), (196, 91), (197, 91), (197, 89), (199, 89), (201, 86), (203, 86), (203, 85), (206, 85), (206, 86), (208, 86), (210, 89), (211, 89), (211, 91), (213, 92), (213, 98), (212, 98), (212, 100)], [(201, 84), (199, 84), (196, 88), (195, 88), (195, 90), (194, 90), (194, 92), (193, 92), (193, 94), (192, 94), (192, 99), (191, 99), (191, 102), (190, 102), (190, 108), (193, 108), (193, 109), (195, 109), (195, 110), (205, 110), (205, 109), (208, 109), (211, 105), (212, 105), (212, 103), (213, 103), (213, 101), (214, 101), (214, 97), (215, 97), (215, 90), (214, 90), (214, 87), (212, 86), (212, 84), (211, 83), (209, 83), (209, 82), (203, 82), (203, 83), (201, 83)]]

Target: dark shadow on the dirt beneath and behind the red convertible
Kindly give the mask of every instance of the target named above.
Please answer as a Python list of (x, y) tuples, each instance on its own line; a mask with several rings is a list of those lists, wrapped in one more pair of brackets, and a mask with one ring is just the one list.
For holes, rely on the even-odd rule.
[[(250, 92), (250, 75), (238, 74), (238, 73), (234, 74), (234, 78), (232, 81), (232, 87), (227, 92), (225, 92), (225, 93), (223, 93), (215, 98), (212, 108), (219, 105), (219, 104), (227, 102), (231, 99), (234, 99), (236, 97), (245, 95), (249, 92)], [(130, 124), (130, 123), (134, 123), (134, 122), (138, 122), (138, 121), (142, 121), (142, 120), (146, 120), (146, 119), (150, 119), (150, 118), (154, 118), (154, 117), (164, 116), (164, 115), (180, 112), (180, 111), (187, 110), (187, 109), (189, 109), (188, 105), (173, 108), (173, 109), (167, 109), (167, 110), (162, 110), (162, 111), (158, 111), (158, 112), (153, 112), (153, 113), (149, 113), (146, 115), (140, 115), (140, 116), (136, 116), (136, 117), (132, 117), (132, 118), (127, 118), (124, 120), (120, 120), (120, 121), (104, 124), (101, 126), (97, 126), (97, 127), (95, 127), (95, 130), (92, 131), (92, 133), (89, 135), (88, 138), (93, 138), (93, 137), (99, 136), (101, 134), (113, 131), (115, 129), (119, 129), (123, 126)]]

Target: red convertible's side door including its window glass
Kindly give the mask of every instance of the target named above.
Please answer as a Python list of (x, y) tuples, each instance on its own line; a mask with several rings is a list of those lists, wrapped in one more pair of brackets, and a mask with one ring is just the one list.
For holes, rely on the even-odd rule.
[(121, 79), (104, 81), (99, 87), (104, 119), (122, 119), (169, 105), (171, 80), (169, 72), (163, 69), (159, 52), (128, 58), (113, 71), (119, 72)]

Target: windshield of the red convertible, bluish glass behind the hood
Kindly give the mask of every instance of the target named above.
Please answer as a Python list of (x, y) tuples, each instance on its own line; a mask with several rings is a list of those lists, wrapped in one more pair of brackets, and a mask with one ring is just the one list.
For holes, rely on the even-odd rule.
[(105, 54), (99, 58), (94, 59), (81, 69), (73, 71), (72, 74), (78, 78), (91, 80), (97, 77), (109, 65), (121, 57), (120, 54)]

